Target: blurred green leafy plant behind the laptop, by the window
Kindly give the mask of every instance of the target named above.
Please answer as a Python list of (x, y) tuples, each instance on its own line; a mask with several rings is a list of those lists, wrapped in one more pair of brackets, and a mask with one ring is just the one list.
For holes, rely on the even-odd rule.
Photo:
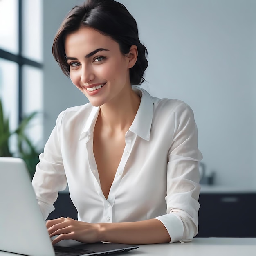
[[(1, 157), (20, 157), (27, 164), (29, 173), (33, 177), (36, 170), (36, 164), (39, 162), (40, 152), (33, 145), (26, 135), (26, 130), (31, 120), (38, 114), (32, 112), (20, 121), (18, 128), (13, 132), (9, 128), (9, 118), (4, 116), (4, 110), (0, 99), (0, 156)], [(9, 141), (12, 136), (16, 135), (16, 148), (18, 152), (11, 152)]]

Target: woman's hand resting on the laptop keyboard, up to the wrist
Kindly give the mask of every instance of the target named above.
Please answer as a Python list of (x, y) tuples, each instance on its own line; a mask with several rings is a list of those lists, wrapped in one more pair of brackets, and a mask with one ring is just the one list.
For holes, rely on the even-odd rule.
[(64, 239), (73, 239), (82, 243), (99, 242), (99, 224), (73, 220), (71, 218), (58, 218), (46, 222), (49, 236), (56, 236), (52, 244)]

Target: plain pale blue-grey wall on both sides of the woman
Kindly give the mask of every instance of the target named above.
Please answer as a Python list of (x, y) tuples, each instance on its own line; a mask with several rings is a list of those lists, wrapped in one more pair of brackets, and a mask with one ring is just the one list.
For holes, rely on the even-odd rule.
[[(61, 110), (87, 102), (51, 55), (54, 34), (77, 2), (44, 1), (45, 138)], [(256, 1), (119, 2), (148, 48), (143, 87), (191, 106), (203, 162), (217, 184), (256, 188)]]

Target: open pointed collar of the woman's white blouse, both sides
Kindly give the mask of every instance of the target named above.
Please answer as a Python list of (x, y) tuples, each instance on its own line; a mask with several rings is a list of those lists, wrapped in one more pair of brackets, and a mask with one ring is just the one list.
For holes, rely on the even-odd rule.
[[(139, 109), (129, 130), (137, 134), (142, 139), (149, 140), (153, 119), (153, 99), (146, 90), (140, 87), (132, 86), (132, 90), (134, 90), (141, 97), (141, 101)], [(80, 139), (93, 132), (98, 115), (99, 107), (92, 106), (92, 111), (90, 112), (90, 115), (85, 123)]]

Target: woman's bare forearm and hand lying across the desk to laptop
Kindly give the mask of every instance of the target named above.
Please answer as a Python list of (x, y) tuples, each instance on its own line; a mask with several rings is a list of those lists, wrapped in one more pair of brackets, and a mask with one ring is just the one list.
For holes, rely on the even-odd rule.
[(49, 235), (59, 235), (53, 244), (63, 239), (73, 239), (83, 243), (99, 241), (126, 244), (169, 243), (171, 238), (161, 221), (157, 219), (124, 223), (90, 224), (71, 218), (48, 220)]

